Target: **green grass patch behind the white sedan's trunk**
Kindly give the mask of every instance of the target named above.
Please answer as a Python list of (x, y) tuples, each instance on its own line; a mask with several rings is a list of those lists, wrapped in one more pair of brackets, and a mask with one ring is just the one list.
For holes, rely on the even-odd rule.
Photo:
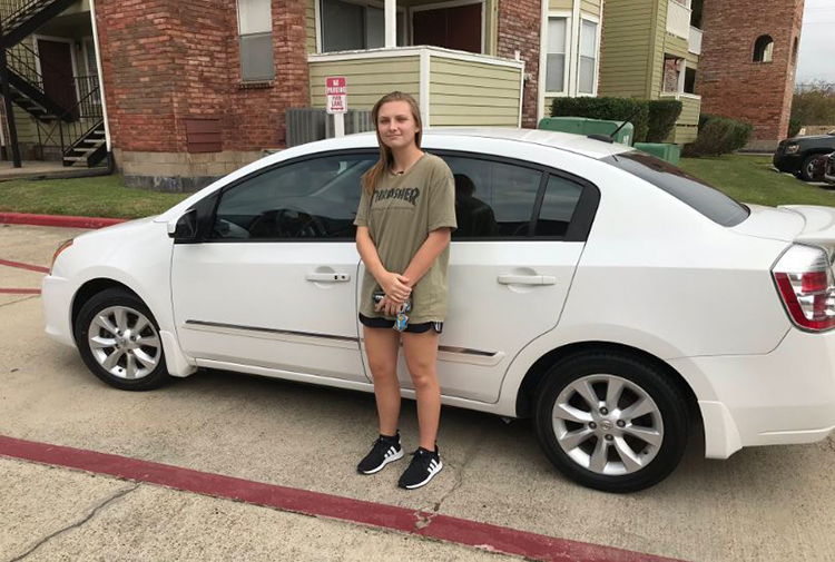
[(835, 206), (835, 189), (808, 185), (772, 167), (770, 156), (682, 158), (681, 168), (741, 203)]

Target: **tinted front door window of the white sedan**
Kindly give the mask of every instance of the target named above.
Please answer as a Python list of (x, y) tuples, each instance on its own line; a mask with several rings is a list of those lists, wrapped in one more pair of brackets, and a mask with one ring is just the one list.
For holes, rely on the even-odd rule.
[(362, 176), (377, 159), (335, 155), (256, 172), (222, 194), (210, 238), (353, 240)]

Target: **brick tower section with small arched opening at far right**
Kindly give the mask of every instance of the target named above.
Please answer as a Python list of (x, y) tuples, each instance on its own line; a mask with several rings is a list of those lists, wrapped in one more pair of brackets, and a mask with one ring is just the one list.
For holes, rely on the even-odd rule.
[(706, 0), (696, 90), (706, 114), (754, 124), (748, 148), (788, 134), (804, 0)]

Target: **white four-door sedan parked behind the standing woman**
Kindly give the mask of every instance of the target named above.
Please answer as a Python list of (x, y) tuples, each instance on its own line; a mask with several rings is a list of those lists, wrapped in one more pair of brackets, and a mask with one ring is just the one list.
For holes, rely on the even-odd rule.
[[(694, 424), (710, 459), (833, 432), (835, 209), (745, 206), (581, 136), (423, 148), (456, 188), (445, 404), (533, 417), (560, 471), (610, 492), (664, 480)], [(65, 243), (47, 333), (124, 390), (209, 367), (373, 392), (352, 223), (377, 158), (373, 134), (291, 148)]]

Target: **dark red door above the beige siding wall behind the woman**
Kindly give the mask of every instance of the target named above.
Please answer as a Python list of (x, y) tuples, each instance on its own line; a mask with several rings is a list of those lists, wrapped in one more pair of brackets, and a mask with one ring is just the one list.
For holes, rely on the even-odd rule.
[(414, 10), (413, 43), (481, 53), (482, 3)]

